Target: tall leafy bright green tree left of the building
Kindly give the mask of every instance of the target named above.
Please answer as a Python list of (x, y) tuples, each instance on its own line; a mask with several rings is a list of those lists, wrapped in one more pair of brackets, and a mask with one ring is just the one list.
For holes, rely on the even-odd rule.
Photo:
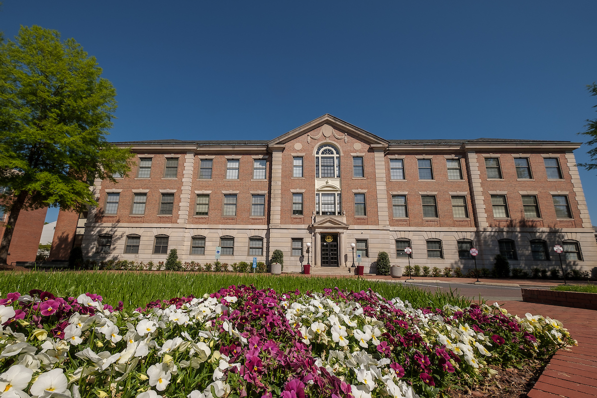
[(21, 209), (97, 205), (90, 184), (127, 174), (131, 152), (108, 143), (116, 91), (95, 57), (56, 30), (22, 27), (0, 42), (0, 243), (6, 264)]

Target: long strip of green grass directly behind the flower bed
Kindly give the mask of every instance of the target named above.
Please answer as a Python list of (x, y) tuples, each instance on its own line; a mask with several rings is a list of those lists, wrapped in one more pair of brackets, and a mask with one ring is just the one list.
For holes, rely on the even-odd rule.
[(31, 289), (42, 289), (60, 297), (77, 297), (85, 292), (100, 294), (104, 304), (116, 307), (118, 301), (127, 310), (144, 306), (150, 301), (194, 295), (201, 297), (230, 285), (255, 285), (273, 288), (276, 292), (323, 292), (338, 287), (346, 291), (368, 288), (383, 297), (400, 297), (417, 307), (437, 307), (450, 303), (466, 307), (470, 301), (456, 293), (429, 293), (400, 283), (374, 282), (362, 278), (269, 276), (264, 274), (207, 274), (207, 273), (138, 273), (138, 272), (43, 272), (4, 273), (0, 277), (0, 297), (10, 292), (26, 294)]

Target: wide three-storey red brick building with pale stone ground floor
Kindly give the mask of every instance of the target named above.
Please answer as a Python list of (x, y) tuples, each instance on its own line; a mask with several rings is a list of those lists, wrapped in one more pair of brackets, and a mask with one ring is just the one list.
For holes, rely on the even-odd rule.
[[(54, 258), (307, 263), (365, 272), (379, 251), (394, 264), (568, 266), (592, 270), (597, 243), (570, 141), (386, 140), (324, 115), (270, 141), (134, 141), (118, 184), (97, 180), (87, 217), (61, 214)], [(86, 219), (85, 219), (86, 218)], [(62, 219), (62, 221), (61, 221)], [(78, 231), (75, 232), (75, 230)], [(62, 236), (60, 238), (59, 236)], [(66, 239), (66, 241), (65, 241)], [(65, 243), (66, 242), (66, 243)], [(78, 242), (78, 243), (76, 243)], [(60, 254), (61, 253), (61, 254)]]

